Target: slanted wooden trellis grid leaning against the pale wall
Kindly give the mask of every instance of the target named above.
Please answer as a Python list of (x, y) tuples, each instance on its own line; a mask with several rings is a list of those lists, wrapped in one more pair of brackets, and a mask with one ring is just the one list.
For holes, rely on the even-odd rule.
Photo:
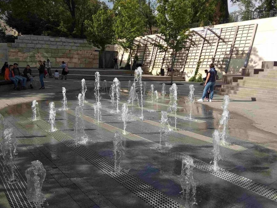
[[(257, 24), (230, 26), (221, 28), (203, 28), (192, 30), (193, 35), (184, 45), (186, 49), (175, 55), (174, 68), (193, 74), (197, 62), (201, 60), (199, 72), (214, 63), (220, 74), (235, 70), (230, 63), (239, 62), (247, 66)], [(139, 63), (152, 70), (171, 67), (171, 51), (160, 51), (157, 44), (166, 45), (162, 35), (147, 35), (135, 40)], [(241, 67), (243, 67), (241, 66)]]

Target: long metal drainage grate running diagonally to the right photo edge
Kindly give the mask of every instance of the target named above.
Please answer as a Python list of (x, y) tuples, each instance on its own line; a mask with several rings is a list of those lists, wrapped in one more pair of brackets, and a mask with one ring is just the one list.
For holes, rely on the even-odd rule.
[[(69, 114), (75, 116), (75, 113), (72, 110), (67, 110), (66, 112), (68, 112)], [(184, 153), (180, 153), (180, 152), (177, 152), (175, 150), (168, 149), (166, 147), (164, 147), (163, 149), (159, 149), (159, 144), (158, 143), (155, 143), (153, 141), (150, 141), (148, 139), (145, 139), (143, 137), (140, 137), (138, 135), (135, 135), (135, 134), (132, 134), (132, 133), (129, 133), (129, 132), (126, 132), (126, 134), (123, 134), (122, 129), (116, 128), (116, 127), (111, 126), (110, 124), (106, 124), (104, 122), (99, 122), (98, 123), (97, 121), (95, 121), (95, 119), (90, 118), (88, 116), (83, 116), (83, 119), (86, 120), (86, 121), (89, 121), (90, 123), (96, 124), (96, 125), (98, 125), (102, 128), (105, 128), (105, 129), (107, 129), (111, 132), (120, 132), (120, 133), (122, 133), (123, 137), (126, 137), (126, 138), (128, 138), (132, 141), (136, 141), (136, 142), (138, 142), (142, 145), (145, 145), (145, 146), (147, 146), (151, 149), (155, 149), (156, 151), (158, 151), (160, 153), (163, 153), (163, 154), (166, 154), (170, 157), (173, 157), (176, 160), (182, 161), (182, 159), (184, 157), (188, 156)], [(214, 175), (216, 177), (219, 177), (219, 178), (221, 178), (225, 181), (233, 183), (233, 184), (235, 184), (237, 186), (240, 186), (244, 189), (253, 191), (256, 194), (259, 194), (263, 197), (266, 197), (268, 199), (271, 199), (271, 200), (277, 202), (277, 190), (272, 189), (272, 188), (270, 188), (268, 186), (265, 186), (263, 184), (260, 184), (258, 182), (252, 181), (248, 178), (242, 177), (240, 175), (237, 175), (235, 173), (231, 173), (231, 172), (226, 171), (226, 170), (221, 169), (221, 168), (219, 169), (219, 172), (214, 172), (213, 171), (213, 165), (208, 164), (204, 161), (201, 161), (201, 160), (193, 158), (193, 157), (191, 157), (191, 158), (193, 159), (193, 162), (194, 162), (196, 168), (198, 168), (200, 170), (203, 170), (205, 172), (211, 173), (212, 175)]]

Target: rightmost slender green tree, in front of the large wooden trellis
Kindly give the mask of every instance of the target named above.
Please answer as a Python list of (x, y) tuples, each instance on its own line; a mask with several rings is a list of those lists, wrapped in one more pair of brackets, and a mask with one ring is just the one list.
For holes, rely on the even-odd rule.
[[(171, 52), (171, 72), (178, 51), (186, 48), (184, 44), (188, 38), (188, 23), (192, 18), (192, 11), (188, 1), (183, 0), (158, 0), (157, 22), (160, 33), (164, 36), (166, 46), (158, 45), (163, 51)], [(171, 84), (173, 73), (171, 73)]]

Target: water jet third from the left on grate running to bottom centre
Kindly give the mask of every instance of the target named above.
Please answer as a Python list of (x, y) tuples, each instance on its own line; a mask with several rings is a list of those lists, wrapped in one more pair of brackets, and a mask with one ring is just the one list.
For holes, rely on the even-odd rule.
[(74, 126), (74, 147), (79, 147), (79, 144), (86, 144), (88, 137), (85, 133), (85, 124), (83, 120), (83, 109), (81, 106), (75, 108), (75, 126)]

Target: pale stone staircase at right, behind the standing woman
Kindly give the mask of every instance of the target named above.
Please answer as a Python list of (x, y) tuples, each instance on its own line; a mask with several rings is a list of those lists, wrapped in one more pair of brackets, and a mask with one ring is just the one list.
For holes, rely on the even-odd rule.
[(223, 75), (225, 84), (215, 93), (231, 98), (277, 102), (277, 62), (263, 62), (261, 69), (242, 69), (241, 75)]

